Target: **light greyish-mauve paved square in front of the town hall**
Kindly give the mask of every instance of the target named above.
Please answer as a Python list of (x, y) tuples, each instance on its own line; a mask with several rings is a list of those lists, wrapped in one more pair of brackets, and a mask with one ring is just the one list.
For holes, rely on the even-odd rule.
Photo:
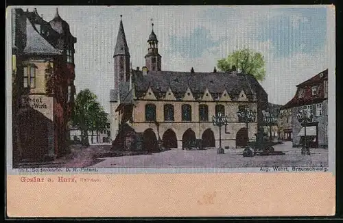
[(242, 148), (225, 150), (217, 155), (216, 149), (209, 150), (167, 150), (152, 155), (104, 158), (95, 168), (252, 168), (327, 166), (328, 150), (312, 148), (311, 155), (301, 155), (300, 148), (292, 148), (292, 142), (274, 146), (285, 155), (243, 157)]

